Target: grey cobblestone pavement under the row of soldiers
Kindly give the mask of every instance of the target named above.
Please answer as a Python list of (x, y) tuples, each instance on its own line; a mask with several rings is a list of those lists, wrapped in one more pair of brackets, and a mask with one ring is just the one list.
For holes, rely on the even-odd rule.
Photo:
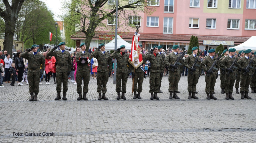
[(187, 99), (187, 76), (179, 82), (180, 100), (168, 99), (168, 76), (164, 76), (159, 101), (149, 99), (148, 77), (140, 100), (132, 99), (132, 78), (127, 82), (127, 100), (116, 100), (116, 85), (109, 78), (108, 101), (97, 100), (95, 79), (89, 82), (88, 101), (76, 100), (73, 82), (68, 82), (68, 100), (54, 101), (56, 84), (52, 78), (50, 82), (40, 85), (36, 102), (28, 101), (28, 85), (4, 83), (0, 142), (256, 142), (256, 94), (249, 93), (249, 100), (234, 93), (235, 100), (225, 100), (219, 78), (217, 100), (206, 100), (204, 76), (197, 84), (198, 100)]

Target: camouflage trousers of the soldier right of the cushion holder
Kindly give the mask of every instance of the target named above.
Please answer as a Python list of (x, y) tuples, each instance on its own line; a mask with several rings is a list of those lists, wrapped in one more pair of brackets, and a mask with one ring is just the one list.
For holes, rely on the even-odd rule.
[[(126, 75), (127, 76), (127, 75)], [(97, 92), (107, 93), (108, 72), (97, 71)]]

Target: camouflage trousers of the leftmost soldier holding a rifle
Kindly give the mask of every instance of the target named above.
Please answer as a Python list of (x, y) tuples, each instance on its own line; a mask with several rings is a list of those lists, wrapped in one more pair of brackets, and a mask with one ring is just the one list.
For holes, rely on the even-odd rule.
[(169, 89), (168, 91), (178, 91), (179, 81), (180, 81), (180, 72), (169, 71)]

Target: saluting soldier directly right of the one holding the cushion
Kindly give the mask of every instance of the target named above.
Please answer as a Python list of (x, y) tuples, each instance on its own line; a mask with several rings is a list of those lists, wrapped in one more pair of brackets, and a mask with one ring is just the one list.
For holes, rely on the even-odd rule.
[[(92, 52), (92, 56), (98, 60), (97, 68), (97, 91), (99, 93), (98, 100), (108, 100), (105, 96), (107, 92), (108, 77), (112, 72), (112, 59), (108, 52), (105, 52), (105, 44), (100, 44), (99, 47)], [(102, 97), (101, 97), (102, 92)]]

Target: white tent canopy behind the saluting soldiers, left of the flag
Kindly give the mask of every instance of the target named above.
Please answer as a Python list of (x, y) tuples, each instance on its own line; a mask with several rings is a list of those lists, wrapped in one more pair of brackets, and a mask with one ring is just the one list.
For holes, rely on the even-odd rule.
[[(132, 44), (124, 41), (119, 35), (117, 35), (117, 46), (116, 48), (119, 48), (120, 46), (124, 45), (126, 50), (131, 50), (132, 49)], [(110, 41), (108, 44), (105, 45), (105, 50), (115, 50), (115, 39)]]

